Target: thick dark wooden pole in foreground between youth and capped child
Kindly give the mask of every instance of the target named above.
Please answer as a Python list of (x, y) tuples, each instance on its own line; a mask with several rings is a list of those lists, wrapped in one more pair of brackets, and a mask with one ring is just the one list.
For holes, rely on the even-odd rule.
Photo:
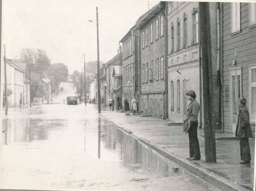
[(205, 160), (206, 162), (216, 162), (215, 129), (212, 112), (213, 74), (211, 63), (211, 23), (209, 2), (199, 2), (198, 8), (199, 33), (201, 34), (202, 46)]

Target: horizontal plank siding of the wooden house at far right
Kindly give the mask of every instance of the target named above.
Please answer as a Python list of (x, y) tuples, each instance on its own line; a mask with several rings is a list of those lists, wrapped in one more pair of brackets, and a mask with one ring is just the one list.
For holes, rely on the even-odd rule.
[[(223, 3), (223, 124), (225, 130), (230, 130), (231, 125), (230, 69), (242, 67), (242, 96), (248, 100), (249, 107), (249, 65), (256, 64), (256, 27), (249, 28), (249, 4), (240, 3), (240, 8), (241, 33), (231, 35), (231, 3)], [(232, 60), (235, 60), (236, 66), (232, 65)], [(252, 125), (252, 131), (255, 132), (255, 125)]]

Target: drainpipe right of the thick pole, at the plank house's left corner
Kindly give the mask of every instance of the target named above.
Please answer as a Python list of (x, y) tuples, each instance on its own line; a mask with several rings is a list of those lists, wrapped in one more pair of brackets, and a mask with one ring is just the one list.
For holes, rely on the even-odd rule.
[(217, 126), (221, 124), (221, 78), (220, 78), (220, 16), (219, 16), (219, 2), (217, 2), (217, 79), (218, 79), (218, 86), (219, 86), (219, 119)]

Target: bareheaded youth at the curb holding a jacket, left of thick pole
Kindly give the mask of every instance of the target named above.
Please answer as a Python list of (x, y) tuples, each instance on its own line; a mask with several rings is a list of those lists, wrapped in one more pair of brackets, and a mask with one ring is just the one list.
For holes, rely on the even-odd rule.
[(193, 90), (186, 92), (187, 100), (190, 100), (190, 104), (187, 109), (187, 119), (184, 121), (184, 131), (188, 132), (189, 138), (189, 160), (200, 160), (200, 147), (197, 137), (197, 126), (198, 126), (198, 114), (199, 104), (197, 102), (196, 94)]

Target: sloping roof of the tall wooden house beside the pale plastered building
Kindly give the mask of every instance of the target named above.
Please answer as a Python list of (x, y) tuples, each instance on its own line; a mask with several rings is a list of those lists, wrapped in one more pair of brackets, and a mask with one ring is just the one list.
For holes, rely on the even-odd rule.
[(161, 11), (161, 9), (159, 8), (159, 5), (165, 8), (165, 1), (160, 1), (158, 4), (153, 6), (153, 8), (151, 8), (148, 12), (146, 12), (143, 15), (144, 17), (141, 20), (137, 21), (135, 30), (138, 30), (141, 27), (143, 27), (148, 22), (148, 20), (155, 17), (157, 15), (157, 13)]

